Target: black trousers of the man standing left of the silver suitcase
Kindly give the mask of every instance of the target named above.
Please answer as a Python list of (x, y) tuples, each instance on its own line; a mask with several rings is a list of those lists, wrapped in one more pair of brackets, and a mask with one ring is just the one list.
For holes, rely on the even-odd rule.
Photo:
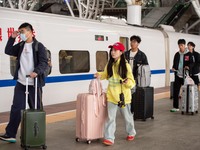
[(173, 95), (173, 107), (179, 108), (179, 93), (180, 88), (183, 85), (183, 78), (178, 77), (175, 75), (175, 81), (174, 81), (174, 95)]

